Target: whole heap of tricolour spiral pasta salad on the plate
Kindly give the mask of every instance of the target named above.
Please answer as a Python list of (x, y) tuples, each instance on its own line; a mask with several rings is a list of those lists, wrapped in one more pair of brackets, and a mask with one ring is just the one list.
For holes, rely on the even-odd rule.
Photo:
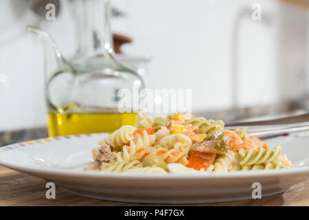
[(122, 126), (98, 142), (84, 170), (212, 173), (292, 167), (279, 144), (271, 148), (246, 130), (227, 130), (222, 120), (184, 113), (152, 120), (139, 112), (136, 127)]

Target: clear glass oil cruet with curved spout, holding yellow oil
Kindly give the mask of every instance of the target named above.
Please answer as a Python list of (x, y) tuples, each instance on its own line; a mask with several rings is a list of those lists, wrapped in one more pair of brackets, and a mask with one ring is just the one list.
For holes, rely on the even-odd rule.
[(119, 113), (119, 89), (142, 89), (144, 82), (114, 56), (108, 0), (72, 0), (76, 54), (69, 59), (47, 32), (37, 34), (45, 52), (45, 94), (49, 136), (113, 132), (135, 124), (136, 113)]

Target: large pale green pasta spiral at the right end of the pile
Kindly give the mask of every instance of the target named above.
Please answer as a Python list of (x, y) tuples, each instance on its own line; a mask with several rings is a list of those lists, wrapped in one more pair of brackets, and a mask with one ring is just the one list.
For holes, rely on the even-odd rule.
[(260, 146), (258, 151), (254, 148), (250, 148), (248, 151), (240, 149), (236, 153), (235, 157), (240, 163), (240, 165), (258, 165), (258, 164), (268, 164), (273, 162), (281, 153), (281, 146), (279, 144), (275, 145), (275, 150), (272, 151), (270, 146), (267, 146), (266, 150)]

